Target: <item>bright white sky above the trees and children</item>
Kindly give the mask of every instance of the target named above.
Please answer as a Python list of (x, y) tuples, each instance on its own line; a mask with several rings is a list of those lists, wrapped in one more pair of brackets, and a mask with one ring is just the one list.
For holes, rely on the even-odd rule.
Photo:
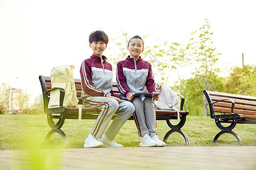
[(89, 34), (97, 29), (110, 38), (121, 35), (122, 28), (129, 35), (148, 33), (147, 44), (182, 43), (204, 19), (223, 54), (223, 70), (242, 66), (242, 53), (245, 65), (255, 65), (255, 8), (255, 0), (0, 0), (0, 85), (9, 82), (33, 98), (42, 94), (38, 76), (49, 76), (52, 67), (74, 65), (80, 78), (80, 64), (92, 54)]

